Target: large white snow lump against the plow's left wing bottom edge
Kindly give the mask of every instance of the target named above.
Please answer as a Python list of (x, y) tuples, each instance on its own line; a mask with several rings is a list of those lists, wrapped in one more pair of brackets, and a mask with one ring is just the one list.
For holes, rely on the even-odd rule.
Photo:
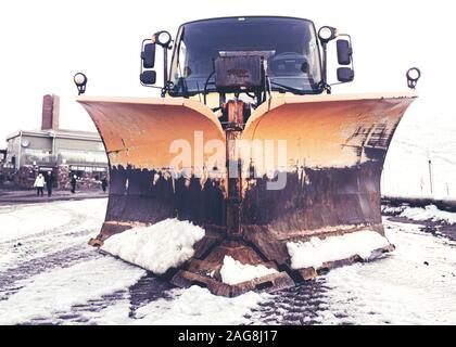
[(204, 230), (188, 221), (166, 219), (150, 227), (132, 228), (107, 239), (101, 249), (128, 262), (163, 274), (190, 259)]

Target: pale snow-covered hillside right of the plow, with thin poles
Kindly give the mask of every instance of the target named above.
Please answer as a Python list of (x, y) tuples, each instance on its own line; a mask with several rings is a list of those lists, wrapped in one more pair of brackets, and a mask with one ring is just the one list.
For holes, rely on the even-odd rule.
[(425, 99), (417, 100), (391, 142), (382, 176), (382, 193), (456, 200), (455, 133), (453, 111), (439, 111)]

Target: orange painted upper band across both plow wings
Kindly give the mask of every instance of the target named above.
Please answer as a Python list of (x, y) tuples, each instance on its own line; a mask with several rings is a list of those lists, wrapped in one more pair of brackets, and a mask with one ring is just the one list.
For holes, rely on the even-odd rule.
[[(383, 136), (391, 139), (416, 97), (415, 93), (275, 94), (253, 112), (242, 139), (274, 140), (276, 145), (279, 140), (287, 140), (289, 167), (296, 164), (306, 167), (352, 166), (367, 159), (365, 155), (357, 156), (354, 149), (367, 146), (376, 128), (384, 128)], [(176, 156), (169, 151), (173, 142), (188, 141), (193, 151), (194, 131), (203, 132), (203, 147), (214, 140), (225, 143), (217, 116), (198, 100), (80, 97), (77, 101), (96, 124), (113, 166), (167, 168)], [(359, 129), (367, 133), (354, 136)], [(379, 145), (387, 150), (388, 144), (387, 141)], [(203, 163), (207, 163), (211, 156), (211, 153), (203, 153)], [(250, 163), (249, 155), (244, 163)], [(192, 163), (192, 169), (204, 169), (197, 164)], [(277, 153), (274, 166), (278, 167)]]

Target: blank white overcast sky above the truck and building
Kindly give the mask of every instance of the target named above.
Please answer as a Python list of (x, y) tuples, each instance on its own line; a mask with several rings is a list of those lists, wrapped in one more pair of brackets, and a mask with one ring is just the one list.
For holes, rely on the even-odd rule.
[[(73, 76), (89, 78), (88, 95), (154, 95), (139, 83), (141, 40), (160, 29), (230, 15), (289, 15), (352, 35), (354, 83), (334, 93), (406, 90), (418, 66), (421, 94), (407, 113), (417, 121), (456, 119), (454, 1), (1, 1), (0, 147), (7, 134), (40, 127), (42, 95), (61, 97), (61, 126), (93, 130), (74, 101)], [(331, 56), (332, 57), (332, 56)], [(332, 57), (335, 60), (335, 56)]]

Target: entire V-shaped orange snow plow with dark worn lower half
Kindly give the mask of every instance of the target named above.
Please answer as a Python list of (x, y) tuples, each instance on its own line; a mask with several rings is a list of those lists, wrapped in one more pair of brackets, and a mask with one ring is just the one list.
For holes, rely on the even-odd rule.
[[(200, 284), (227, 296), (280, 290), (391, 250), (380, 176), (415, 98), (277, 97), (246, 121), (223, 126), (208, 107), (187, 99), (79, 98), (110, 159), (109, 206), (98, 239), (165, 219), (189, 220), (205, 235), (193, 257), (167, 275), (176, 285)], [(358, 236), (344, 239), (349, 233)], [(343, 242), (358, 247), (341, 252)], [(302, 261), (300, 252), (306, 259), (316, 253), (318, 266)], [(228, 284), (220, 273), (230, 258), (276, 271)]]

